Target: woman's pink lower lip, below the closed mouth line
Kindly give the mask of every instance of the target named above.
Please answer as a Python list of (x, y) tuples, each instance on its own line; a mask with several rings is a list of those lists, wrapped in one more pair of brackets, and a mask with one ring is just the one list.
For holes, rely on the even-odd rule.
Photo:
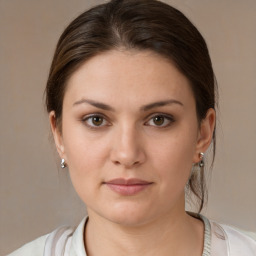
[(109, 184), (106, 185), (113, 190), (114, 192), (123, 195), (123, 196), (133, 196), (141, 191), (147, 189), (151, 183), (149, 184), (132, 184), (132, 185), (120, 185), (120, 184)]

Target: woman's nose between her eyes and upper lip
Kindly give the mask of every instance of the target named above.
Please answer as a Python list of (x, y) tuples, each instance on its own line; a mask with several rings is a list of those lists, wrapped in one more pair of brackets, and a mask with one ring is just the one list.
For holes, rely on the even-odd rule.
[(142, 138), (135, 127), (125, 126), (114, 135), (111, 161), (129, 169), (145, 162), (146, 155)]

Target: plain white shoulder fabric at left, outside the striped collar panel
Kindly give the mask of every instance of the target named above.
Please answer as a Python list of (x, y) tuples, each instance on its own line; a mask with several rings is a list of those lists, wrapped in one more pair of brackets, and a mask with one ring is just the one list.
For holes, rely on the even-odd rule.
[(44, 253), (45, 242), (49, 234), (41, 236), (34, 241), (23, 245), (18, 250), (8, 254), (7, 256), (42, 256)]

